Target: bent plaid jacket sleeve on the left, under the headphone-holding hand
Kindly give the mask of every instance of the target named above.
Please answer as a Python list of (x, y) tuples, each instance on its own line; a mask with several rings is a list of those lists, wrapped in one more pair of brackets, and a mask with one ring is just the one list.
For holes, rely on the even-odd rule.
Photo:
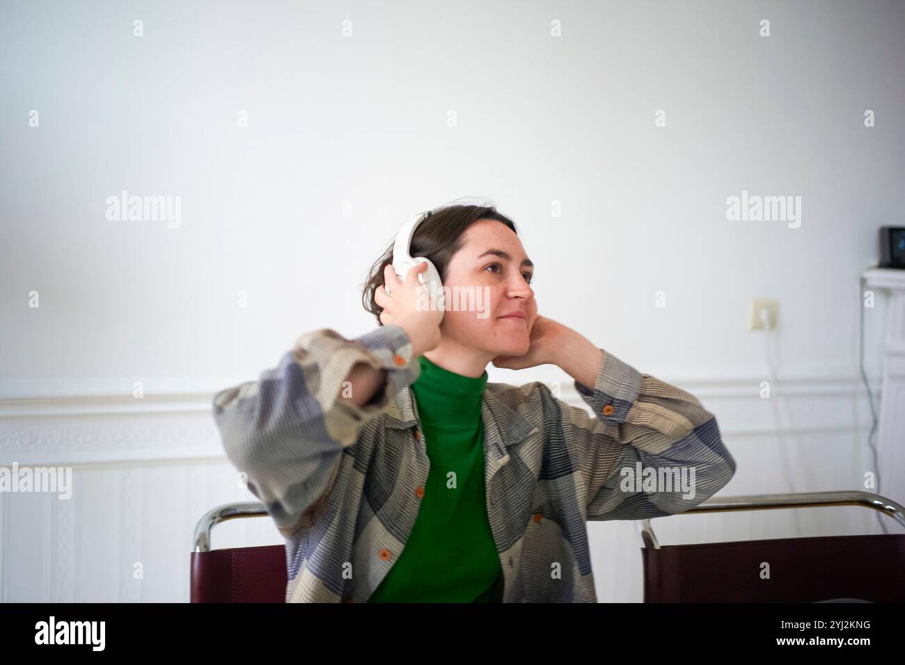
[[(368, 404), (338, 399), (357, 363), (386, 369)], [(332, 487), (342, 452), (393, 396), (420, 374), (411, 340), (399, 326), (348, 340), (334, 330), (305, 333), (257, 381), (214, 394), (214, 422), (226, 456), (247, 474), (283, 536), (291, 536)]]

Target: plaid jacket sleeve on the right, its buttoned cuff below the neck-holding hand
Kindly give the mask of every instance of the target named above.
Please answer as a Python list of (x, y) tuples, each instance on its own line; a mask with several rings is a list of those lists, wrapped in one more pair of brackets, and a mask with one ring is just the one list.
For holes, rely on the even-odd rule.
[[(585, 409), (562, 403), (584, 482), (587, 518), (647, 519), (709, 499), (735, 474), (716, 417), (694, 395), (603, 351)], [(579, 492), (579, 494), (581, 494)]]

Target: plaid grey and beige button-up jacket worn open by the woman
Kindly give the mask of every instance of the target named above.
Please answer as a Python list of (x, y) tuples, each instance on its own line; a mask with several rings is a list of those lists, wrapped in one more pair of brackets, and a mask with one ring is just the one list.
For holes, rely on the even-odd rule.
[[(497, 601), (595, 603), (587, 520), (681, 513), (735, 473), (697, 398), (603, 358), (594, 386), (575, 382), (595, 417), (540, 382), (481, 395)], [(387, 370), (362, 407), (338, 399), (357, 363)], [(214, 395), (227, 457), (285, 538), (286, 602), (366, 602), (405, 547), (430, 466), (410, 387), (420, 371), (399, 326), (353, 340), (321, 328), (258, 381)], [(647, 468), (694, 470), (693, 496), (624, 482)]]

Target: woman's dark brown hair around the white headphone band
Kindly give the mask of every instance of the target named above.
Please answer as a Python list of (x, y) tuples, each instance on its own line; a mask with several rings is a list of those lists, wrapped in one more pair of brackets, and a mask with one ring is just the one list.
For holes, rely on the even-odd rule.
[[(424, 256), (433, 262), (440, 279), (446, 280), (447, 266), (455, 252), (462, 249), (462, 233), (473, 223), (482, 219), (502, 222), (512, 229), (513, 233), (519, 233), (515, 223), (504, 214), (497, 212), (493, 205), (474, 204), (449, 204), (434, 208), (430, 217), (419, 224), (412, 238), (412, 246), (409, 249), (411, 256)], [(384, 269), (393, 262), (393, 245), (377, 259), (365, 281), (365, 290), (362, 292), (362, 304), (377, 319), (377, 325), (383, 326), (380, 314), (383, 308), (374, 299), (374, 291), (384, 285)]]

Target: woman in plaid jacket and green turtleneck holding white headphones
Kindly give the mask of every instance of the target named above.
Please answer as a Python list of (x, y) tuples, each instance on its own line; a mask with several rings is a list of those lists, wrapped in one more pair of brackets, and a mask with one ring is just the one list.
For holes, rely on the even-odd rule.
[[(419, 299), (425, 264), (400, 280), (392, 252), (365, 287), (376, 329), (304, 334), (214, 396), (229, 459), (286, 538), (287, 602), (595, 603), (586, 520), (679, 513), (735, 473), (694, 396), (538, 315), (493, 207), (437, 209), (410, 248), (444, 292), (485, 294), (481, 311), (447, 299), (441, 321)], [(561, 367), (596, 417), (539, 382), (488, 383), (490, 362)]]

